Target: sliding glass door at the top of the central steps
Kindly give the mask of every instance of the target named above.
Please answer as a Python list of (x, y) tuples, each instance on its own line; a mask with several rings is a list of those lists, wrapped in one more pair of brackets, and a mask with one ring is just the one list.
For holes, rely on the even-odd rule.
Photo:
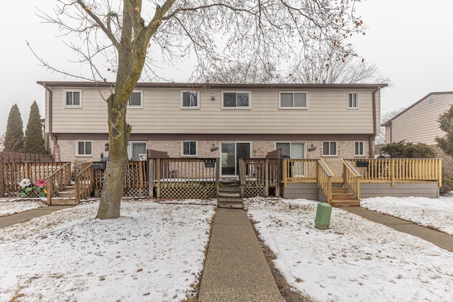
[(250, 143), (222, 143), (222, 176), (239, 175), (239, 158), (250, 158)]

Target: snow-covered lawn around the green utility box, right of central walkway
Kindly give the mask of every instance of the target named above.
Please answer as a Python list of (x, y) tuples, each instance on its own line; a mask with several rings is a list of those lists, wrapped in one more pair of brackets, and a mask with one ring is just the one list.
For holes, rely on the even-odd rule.
[[(330, 228), (321, 231), (314, 227), (316, 205), (306, 199), (246, 202), (277, 257), (275, 267), (294, 288), (316, 301), (453, 301), (452, 252), (337, 208)], [(393, 207), (409, 215), (421, 209)], [(452, 199), (447, 207), (453, 209)]]

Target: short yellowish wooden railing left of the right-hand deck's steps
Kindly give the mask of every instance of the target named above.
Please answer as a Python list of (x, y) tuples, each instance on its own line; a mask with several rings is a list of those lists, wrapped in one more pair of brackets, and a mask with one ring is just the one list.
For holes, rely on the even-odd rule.
[(316, 182), (316, 159), (283, 159), (282, 182)]

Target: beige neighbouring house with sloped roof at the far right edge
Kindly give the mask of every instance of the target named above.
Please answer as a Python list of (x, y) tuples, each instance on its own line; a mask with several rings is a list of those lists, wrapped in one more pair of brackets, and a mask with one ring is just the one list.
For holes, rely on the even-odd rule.
[(386, 127), (386, 144), (406, 141), (432, 146), (442, 158), (444, 168), (452, 171), (453, 159), (437, 147), (436, 137), (444, 137), (439, 127), (439, 116), (453, 105), (453, 92), (429, 93), (417, 103), (382, 124)]

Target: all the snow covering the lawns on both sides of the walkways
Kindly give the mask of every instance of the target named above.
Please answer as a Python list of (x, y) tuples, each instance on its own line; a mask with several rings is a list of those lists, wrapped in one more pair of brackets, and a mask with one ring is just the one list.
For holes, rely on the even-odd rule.
[[(122, 202), (100, 221), (98, 202), (0, 228), (0, 301), (180, 301), (205, 260), (215, 199)], [(317, 202), (247, 199), (261, 239), (289, 284), (315, 301), (453, 301), (453, 253)], [(452, 229), (453, 197), (368, 198), (362, 206)], [(2, 208), (25, 209), (22, 202)]]

